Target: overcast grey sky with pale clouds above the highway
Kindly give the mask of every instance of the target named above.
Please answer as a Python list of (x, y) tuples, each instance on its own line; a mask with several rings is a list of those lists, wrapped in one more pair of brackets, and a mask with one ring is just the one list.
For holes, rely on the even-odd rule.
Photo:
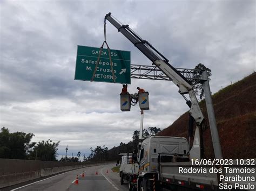
[[(138, 105), (120, 111), (121, 84), (75, 81), (77, 45), (100, 47), (112, 12), (174, 67), (212, 70), (217, 92), (255, 71), (255, 1), (0, 1), (0, 125), (60, 140), (59, 155), (112, 148), (139, 129)], [(131, 63), (151, 65), (109, 22), (110, 48), (131, 51)], [(144, 127), (164, 129), (188, 110), (170, 81), (131, 80), (130, 93), (150, 94)]]

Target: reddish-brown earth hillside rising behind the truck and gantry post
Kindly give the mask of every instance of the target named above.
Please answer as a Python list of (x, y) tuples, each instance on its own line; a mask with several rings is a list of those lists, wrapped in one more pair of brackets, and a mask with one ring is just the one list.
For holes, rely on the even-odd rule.
[[(213, 107), (224, 158), (256, 158), (255, 95), (255, 72), (213, 95)], [(208, 122), (205, 101), (199, 104)], [(187, 138), (187, 126), (188, 112), (185, 112), (172, 125), (159, 133), (159, 136)], [(206, 158), (213, 158), (210, 126), (203, 137)]]

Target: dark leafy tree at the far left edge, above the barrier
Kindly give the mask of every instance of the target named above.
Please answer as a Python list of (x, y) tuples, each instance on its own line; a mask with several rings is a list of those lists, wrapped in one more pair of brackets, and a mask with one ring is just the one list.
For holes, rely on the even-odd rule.
[(27, 154), (36, 144), (30, 143), (33, 133), (15, 132), (2, 128), (0, 132), (0, 158), (27, 159)]

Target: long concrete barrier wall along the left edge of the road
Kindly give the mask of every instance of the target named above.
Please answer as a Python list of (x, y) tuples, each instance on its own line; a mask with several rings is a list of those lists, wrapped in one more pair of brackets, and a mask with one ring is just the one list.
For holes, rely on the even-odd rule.
[[(109, 161), (113, 162), (113, 161)], [(0, 188), (73, 169), (109, 162), (49, 162), (35, 160), (0, 159)]]

